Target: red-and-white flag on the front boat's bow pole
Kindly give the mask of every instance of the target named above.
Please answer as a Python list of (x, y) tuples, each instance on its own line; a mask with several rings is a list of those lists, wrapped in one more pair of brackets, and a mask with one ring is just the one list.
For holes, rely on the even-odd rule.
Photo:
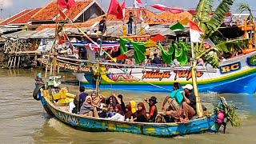
[(201, 34), (204, 34), (202, 30), (196, 23), (189, 21), (190, 24), (190, 41), (191, 42), (202, 42)]

